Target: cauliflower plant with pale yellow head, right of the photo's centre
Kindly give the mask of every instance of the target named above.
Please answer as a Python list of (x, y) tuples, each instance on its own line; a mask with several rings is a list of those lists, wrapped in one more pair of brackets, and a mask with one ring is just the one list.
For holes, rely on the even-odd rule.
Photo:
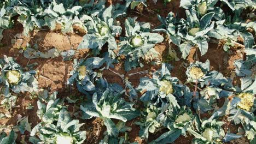
[[(144, 103), (151, 103), (164, 106), (167, 103), (168, 95), (174, 95), (180, 99), (184, 94), (185, 86), (179, 85), (177, 77), (172, 77), (171, 66), (162, 63), (162, 67), (153, 73), (153, 78), (143, 77), (140, 80), (137, 91), (142, 93), (141, 100)], [(181, 100), (182, 101), (182, 100)]]

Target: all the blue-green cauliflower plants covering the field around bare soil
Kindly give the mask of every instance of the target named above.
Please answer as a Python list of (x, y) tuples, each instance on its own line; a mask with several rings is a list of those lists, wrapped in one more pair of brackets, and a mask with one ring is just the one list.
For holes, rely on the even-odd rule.
[[(166, 4), (170, 1), (163, 2)], [(68, 103), (81, 102), (79, 105), (82, 115), (75, 112), (72, 117), (98, 117), (102, 120), (107, 131), (104, 139), (100, 141), (101, 144), (131, 143), (129, 132), (132, 128), (126, 122), (138, 116), (141, 117), (135, 123), (140, 127), (139, 137), (147, 143), (175, 143), (179, 136), (188, 134), (194, 136), (192, 143), (222, 143), (242, 136), (255, 143), (256, 60), (253, 34), (256, 27), (254, 17), (244, 16), (247, 11), (250, 14), (255, 11), (255, 2), (181, 0), (179, 6), (184, 9), (185, 17), (179, 18), (172, 11), (166, 18), (158, 15), (161, 25), (154, 29), (151, 29), (148, 22), (136, 21), (137, 17), (125, 18), (127, 9), (140, 8), (143, 5), (147, 7), (146, 1), (126, 0), (124, 5), (120, 3), (106, 8), (104, 0), (5, 0), (0, 3), (0, 40), (6, 37), (3, 35), (4, 29), (14, 26), (14, 17), (23, 26), (23, 35), (26, 37), (34, 29), (41, 30), (45, 26), (51, 31), (61, 26), (63, 33), (72, 33), (75, 28), (83, 31), (82, 34), (85, 35), (78, 50), (90, 49), (89, 58), (86, 56), (74, 59), (67, 84), (75, 85), (86, 98), (73, 100), (69, 98), (70, 95), (66, 95), (66, 99)], [(119, 20), (125, 20), (123, 34), (123, 24)], [(234, 62), (236, 75), (241, 77), (241, 86), (232, 85), (234, 77), (227, 78), (216, 70), (210, 70), (208, 60), (205, 63), (195, 61), (190, 65), (183, 63), (182, 66), (187, 67), (187, 80), (182, 83), (171, 75), (170, 64), (161, 63), (160, 54), (154, 49), (155, 45), (164, 41), (164, 37), (157, 32), (166, 33), (168, 44), (165, 44), (170, 47), (171, 43), (176, 45), (183, 59), (188, 57), (192, 47), (196, 52), (199, 50), (201, 56), (205, 55), (209, 43), (216, 39), (225, 41), (225, 52), (232, 50), (232, 47), (245, 48), (246, 58)], [(62, 56), (63, 61), (69, 61), (76, 53), (75, 49), (60, 52), (54, 47), (41, 52), (37, 44), (33, 47), (28, 44), (26, 48), (20, 53), (23, 52), (28, 59)], [(97, 57), (91, 57), (91, 54)], [(199, 59), (205, 59), (201, 56)], [(142, 68), (144, 62), (161, 63), (161, 67), (142, 77), (136, 88), (129, 81), (130, 77), (125, 77), (131, 74), (119, 74), (125, 87), (123, 89), (117, 83), (108, 83), (101, 73), (104, 69), (113, 67), (113, 63), (120, 62), (121, 59), (117, 60), (117, 57), (125, 57), (126, 71)], [(175, 59), (178, 61), (179, 58), (175, 56)], [(7, 56), (0, 60), (0, 70), (1, 107), (5, 110), (10, 111), (15, 106), (19, 93), (30, 92), (38, 95), (37, 115), (40, 122), (31, 130), (28, 117), (19, 117), (17, 125), (13, 127), (15, 130), (19, 130), (20, 134), (31, 132), (31, 143), (85, 141), (86, 132), (80, 130), (84, 123), (71, 119), (65, 99), (57, 98), (57, 92), (49, 94), (46, 90), (38, 91), (36, 71), (27, 71), (14, 58)], [(191, 88), (193, 91), (190, 91)], [(137, 92), (141, 93), (139, 99)], [(133, 103), (127, 102), (123, 96), (129, 97), (130, 101), (134, 100)], [(222, 107), (218, 104), (220, 99), (225, 100)], [(141, 110), (134, 108), (141, 104), (138, 100), (144, 104), (144, 107), (140, 107)], [(33, 109), (33, 105), (29, 103), (27, 109)], [(206, 112), (210, 114), (210, 118), (200, 119), (201, 113)], [(6, 113), (1, 113), (0, 117), (5, 116)], [(239, 133), (234, 134), (230, 130), (225, 133), (224, 124), (226, 126), (229, 123), (237, 125)], [(150, 135), (159, 134), (161, 130), (165, 133), (161, 133), (151, 142), (148, 141)], [(240, 133), (241, 131), (244, 133)], [(123, 134), (119, 136), (120, 133)], [(9, 134), (2, 132), (0, 143), (15, 143), (16, 137), (13, 130)]]

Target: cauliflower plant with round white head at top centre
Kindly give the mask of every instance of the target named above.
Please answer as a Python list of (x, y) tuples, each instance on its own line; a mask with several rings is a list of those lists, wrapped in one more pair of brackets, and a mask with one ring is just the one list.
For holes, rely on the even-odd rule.
[(125, 56), (125, 70), (130, 71), (142, 67), (141, 59), (145, 58), (155, 44), (161, 43), (164, 37), (158, 33), (150, 33), (150, 23), (137, 22), (136, 18), (125, 20), (125, 37), (120, 37), (119, 56)]

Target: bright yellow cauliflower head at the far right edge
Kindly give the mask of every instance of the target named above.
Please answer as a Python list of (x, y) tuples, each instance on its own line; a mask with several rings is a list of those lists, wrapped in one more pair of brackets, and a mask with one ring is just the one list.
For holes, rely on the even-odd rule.
[(237, 97), (241, 99), (237, 106), (240, 109), (249, 111), (253, 106), (254, 95), (252, 93), (240, 93)]

